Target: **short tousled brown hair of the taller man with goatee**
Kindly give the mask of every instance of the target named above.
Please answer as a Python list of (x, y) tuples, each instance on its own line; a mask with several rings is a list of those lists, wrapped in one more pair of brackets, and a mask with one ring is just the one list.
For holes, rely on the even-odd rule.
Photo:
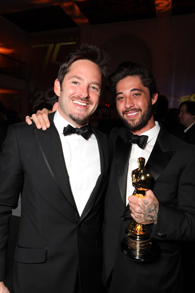
[(58, 79), (60, 87), (62, 88), (64, 76), (68, 73), (70, 66), (77, 60), (89, 60), (99, 66), (99, 69), (101, 71), (102, 93), (106, 79), (109, 74), (108, 63), (110, 61), (110, 58), (106, 52), (92, 44), (81, 44), (78, 48), (72, 50), (66, 56), (65, 60), (59, 67)]

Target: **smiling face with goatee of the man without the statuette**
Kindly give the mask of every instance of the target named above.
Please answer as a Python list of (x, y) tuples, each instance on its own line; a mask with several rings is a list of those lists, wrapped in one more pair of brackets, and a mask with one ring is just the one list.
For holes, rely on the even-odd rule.
[(98, 107), (101, 93), (101, 72), (96, 63), (77, 60), (65, 75), (62, 89), (54, 84), (59, 96), (59, 114), (76, 127), (85, 125)]

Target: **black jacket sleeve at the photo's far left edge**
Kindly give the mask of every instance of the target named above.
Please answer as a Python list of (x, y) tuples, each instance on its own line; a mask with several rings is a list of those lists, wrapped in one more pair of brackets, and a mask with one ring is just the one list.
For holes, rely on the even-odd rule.
[(15, 126), (10, 126), (0, 153), (0, 281), (5, 277), (9, 219), (12, 209), (18, 206), (22, 185), (23, 171), (17, 134)]

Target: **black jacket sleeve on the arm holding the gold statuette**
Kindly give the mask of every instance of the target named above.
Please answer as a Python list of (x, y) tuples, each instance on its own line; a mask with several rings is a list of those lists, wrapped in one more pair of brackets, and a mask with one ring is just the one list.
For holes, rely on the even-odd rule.
[(176, 205), (159, 202), (157, 224), (151, 226), (151, 237), (195, 241), (195, 151), (189, 156), (177, 186)]

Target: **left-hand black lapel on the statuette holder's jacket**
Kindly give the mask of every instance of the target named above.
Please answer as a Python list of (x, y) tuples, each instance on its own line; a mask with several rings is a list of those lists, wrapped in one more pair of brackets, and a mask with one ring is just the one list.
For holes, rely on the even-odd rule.
[(120, 195), (124, 205), (126, 206), (126, 189), (127, 189), (127, 173), (129, 167), (129, 157), (131, 152), (131, 143), (128, 142), (127, 136), (117, 137), (115, 146), (115, 158), (117, 167), (117, 180), (120, 189)]

